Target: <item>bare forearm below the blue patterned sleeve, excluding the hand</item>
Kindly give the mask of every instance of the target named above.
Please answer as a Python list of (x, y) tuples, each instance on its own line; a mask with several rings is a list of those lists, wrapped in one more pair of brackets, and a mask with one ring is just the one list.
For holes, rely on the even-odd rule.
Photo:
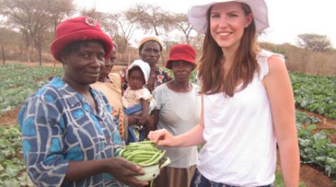
[(106, 160), (70, 161), (64, 181), (78, 181), (106, 171)]

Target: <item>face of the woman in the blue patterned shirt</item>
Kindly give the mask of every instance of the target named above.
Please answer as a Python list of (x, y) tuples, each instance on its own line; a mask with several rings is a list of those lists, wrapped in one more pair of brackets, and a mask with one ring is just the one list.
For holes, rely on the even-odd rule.
[(104, 65), (104, 45), (100, 41), (80, 41), (70, 44), (62, 55), (63, 79), (66, 83), (90, 85), (99, 78)]

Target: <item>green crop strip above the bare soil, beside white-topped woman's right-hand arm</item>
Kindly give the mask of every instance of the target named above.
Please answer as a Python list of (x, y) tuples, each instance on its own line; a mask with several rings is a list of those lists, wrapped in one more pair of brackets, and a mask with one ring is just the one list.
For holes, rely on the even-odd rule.
[(336, 119), (336, 76), (291, 73), (295, 105)]

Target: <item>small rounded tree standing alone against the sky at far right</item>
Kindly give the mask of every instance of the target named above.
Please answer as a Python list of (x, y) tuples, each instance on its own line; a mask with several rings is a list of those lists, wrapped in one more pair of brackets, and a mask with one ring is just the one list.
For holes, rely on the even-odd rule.
[(306, 50), (323, 52), (332, 48), (331, 42), (326, 35), (299, 34), (297, 38), (297, 46)]

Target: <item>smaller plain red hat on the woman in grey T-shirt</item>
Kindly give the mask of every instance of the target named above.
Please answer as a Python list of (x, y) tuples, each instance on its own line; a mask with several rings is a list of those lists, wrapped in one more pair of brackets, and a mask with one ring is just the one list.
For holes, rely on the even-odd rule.
[(193, 46), (186, 44), (178, 44), (170, 49), (169, 59), (166, 68), (172, 69), (172, 61), (183, 60), (190, 64), (196, 65), (196, 51)]

